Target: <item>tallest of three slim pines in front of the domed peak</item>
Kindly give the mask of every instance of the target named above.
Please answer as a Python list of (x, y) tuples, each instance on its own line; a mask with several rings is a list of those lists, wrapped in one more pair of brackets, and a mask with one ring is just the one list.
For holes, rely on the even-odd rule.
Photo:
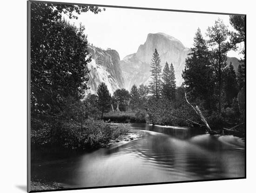
[(153, 59), (151, 60), (150, 70), (151, 72), (151, 81), (149, 84), (150, 92), (153, 94), (154, 97), (157, 99), (160, 97), (161, 91), (161, 65), (160, 65), (160, 57), (155, 48), (155, 52), (153, 54)]

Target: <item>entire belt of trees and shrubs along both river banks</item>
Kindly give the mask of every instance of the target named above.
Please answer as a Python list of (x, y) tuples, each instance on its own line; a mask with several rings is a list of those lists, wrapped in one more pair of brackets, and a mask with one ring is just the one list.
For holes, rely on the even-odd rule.
[(237, 72), (232, 63), (227, 64), (227, 52), (237, 50), (238, 43), (245, 45), (244, 16), (230, 15), (236, 32), (230, 32), (220, 19), (207, 29), (205, 37), (198, 28), (181, 86), (175, 84), (172, 61), (164, 61), (162, 67), (155, 49), (148, 86), (117, 89), (111, 95), (102, 82), (96, 94), (85, 98), (91, 61), (85, 27), (75, 27), (62, 15), (76, 19), (81, 13), (102, 11), (105, 9), (93, 6), (31, 4), (33, 148), (90, 150), (106, 146), (130, 131), (128, 122), (207, 131), (206, 121), (214, 133), (244, 136), (245, 46)]

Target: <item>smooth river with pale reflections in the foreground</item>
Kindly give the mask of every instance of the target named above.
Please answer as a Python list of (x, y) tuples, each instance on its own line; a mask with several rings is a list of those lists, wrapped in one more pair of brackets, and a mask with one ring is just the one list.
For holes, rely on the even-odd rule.
[(131, 124), (145, 135), (68, 159), (42, 160), (32, 176), (65, 188), (244, 177), (244, 141), (184, 127)]

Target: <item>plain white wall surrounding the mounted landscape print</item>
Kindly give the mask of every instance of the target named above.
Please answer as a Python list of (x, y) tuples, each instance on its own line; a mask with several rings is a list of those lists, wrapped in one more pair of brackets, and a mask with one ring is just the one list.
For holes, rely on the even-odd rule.
[[(55, 0), (58, 1), (58, 0)], [(76, 3), (155, 7), (247, 14), (247, 179), (76, 190), (76, 193), (255, 191), (256, 109), (255, 5), (250, 0), (61, 0)], [(24, 193), (27, 179), (27, 2), (1, 1), (0, 9), (0, 192)], [(72, 191), (66, 191), (71, 193)]]

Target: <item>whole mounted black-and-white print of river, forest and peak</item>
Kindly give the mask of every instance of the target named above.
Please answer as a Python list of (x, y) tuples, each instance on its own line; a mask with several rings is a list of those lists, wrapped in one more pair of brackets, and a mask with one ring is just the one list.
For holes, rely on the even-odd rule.
[(28, 192), (246, 178), (245, 14), (27, 12)]

